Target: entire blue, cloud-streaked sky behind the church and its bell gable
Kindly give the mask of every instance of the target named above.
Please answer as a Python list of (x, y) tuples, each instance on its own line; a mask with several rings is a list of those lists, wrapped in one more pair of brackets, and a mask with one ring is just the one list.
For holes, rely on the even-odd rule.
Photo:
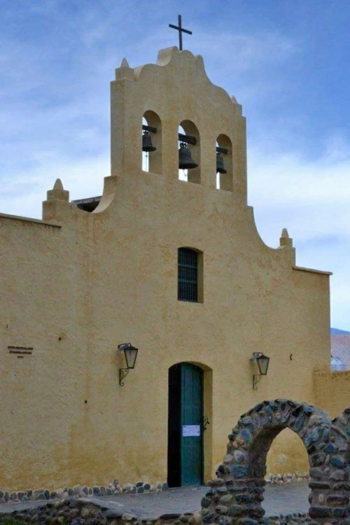
[(0, 211), (41, 217), (109, 175), (109, 83), (127, 57), (177, 45), (243, 104), (248, 201), (262, 239), (330, 270), (332, 326), (350, 329), (350, 2), (0, 0)]

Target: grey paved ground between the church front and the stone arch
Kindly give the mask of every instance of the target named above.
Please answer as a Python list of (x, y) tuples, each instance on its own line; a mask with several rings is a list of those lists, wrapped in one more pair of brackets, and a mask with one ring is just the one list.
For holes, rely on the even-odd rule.
[[(200, 509), (201, 499), (208, 490), (207, 486), (188, 486), (164, 492), (123, 494), (104, 498), (90, 496), (88, 499), (99, 507), (116, 510), (120, 515), (128, 513), (141, 519), (157, 519), (162, 514), (195, 512)], [(306, 483), (267, 485), (265, 500), (262, 502), (262, 507), (266, 510), (265, 516), (307, 512), (309, 492)], [(45, 501), (1, 504), (0, 514), (42, 505), (45, 505)]]

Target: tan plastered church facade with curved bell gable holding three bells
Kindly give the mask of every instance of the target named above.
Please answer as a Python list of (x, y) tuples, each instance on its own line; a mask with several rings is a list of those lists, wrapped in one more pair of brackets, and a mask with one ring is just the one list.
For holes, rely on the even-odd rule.
[[(156, 148), (148, 171), (143, 119)], [(197, 165), (187, 180), (179, 126)], [(56, 181), (41, 221), (0, 215), (1, 488), (200, 484), (247, 409), (316, 402), (330, 274), (298, 267), (286, 230), (277, 248), (264, 244), (246, 176), (241, 106), (202, 57), (169, 48), (157, 64), (116, 70), (97, 207), (69, 202)], [(121, 377), (126, 343), (139, 350)], [(254, 389), (260, 354), (269, 368)], [(300, 450), (281, 434), (269, 471), (307, 470)]]

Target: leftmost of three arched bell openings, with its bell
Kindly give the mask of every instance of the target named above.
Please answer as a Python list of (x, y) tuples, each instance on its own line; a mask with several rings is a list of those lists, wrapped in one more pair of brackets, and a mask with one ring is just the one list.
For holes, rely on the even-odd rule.
[(142, 118), (142, 170), (162, 173), (162, 123), (154, 111)]

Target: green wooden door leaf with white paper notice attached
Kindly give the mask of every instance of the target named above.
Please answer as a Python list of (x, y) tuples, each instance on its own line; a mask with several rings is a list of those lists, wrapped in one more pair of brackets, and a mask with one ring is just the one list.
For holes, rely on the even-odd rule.
[(203, 372), (181, 365), (181, 486), (201, 485), (203, 470)]

